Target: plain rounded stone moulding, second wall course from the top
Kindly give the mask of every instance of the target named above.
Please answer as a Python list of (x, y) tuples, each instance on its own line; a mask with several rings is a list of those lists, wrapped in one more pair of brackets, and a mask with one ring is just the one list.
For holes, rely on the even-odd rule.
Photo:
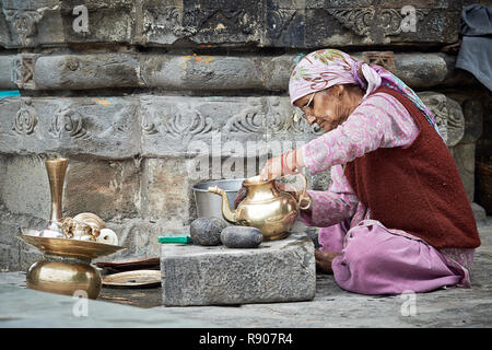
[[(383, 55), (383, 51), (372, 51)], [(368, 52), (351, 52), (367, 58)], [(267, 90), (286, 92), (294, 55), (204, 55), (191, 51), (155, 54), (91, 54), (0, 56), (0, 89), (91, 90), (159, 88), (176, 91)], [(445, 84), (449, 75), (445, 54), (394, 54), (389, 68), (413, 89)], [(384, 60), (384, 58), (383, 58)], [(391, 69), (393, 67), (393, 69)], [(459, 82), (459, 81), (458, 81)], [(455, 82), (456, 83), (456, 82)]]

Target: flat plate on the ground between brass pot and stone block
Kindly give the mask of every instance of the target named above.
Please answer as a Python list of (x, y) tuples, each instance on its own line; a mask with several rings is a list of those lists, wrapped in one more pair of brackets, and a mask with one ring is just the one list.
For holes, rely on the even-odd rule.
[(161, 285), (160, 270), (126, 271), (103, 277), (103, 285), (110, 288), (150, 288)]

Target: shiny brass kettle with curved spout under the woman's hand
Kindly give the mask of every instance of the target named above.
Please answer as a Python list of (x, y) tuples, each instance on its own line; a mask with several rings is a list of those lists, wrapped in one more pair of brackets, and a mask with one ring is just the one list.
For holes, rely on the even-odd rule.
[(276, 180), (262, 180), (259, 176), (246, 178), (243, 186), (247, 188), (246, 197), (239, 202), (235, 211), (231, 210), (229, 198), (224, 189), (219, 186), (208, 188), (209, 192), (222, 196), (222, 215), (231, 223), (254, 226), (261, 231), (265, 241), (282, 240), (289, 235), (294, 225), (300, 203), (306, 196), (307, 180), (302, 174), (304, 188), (297, 200), (276, 186)]

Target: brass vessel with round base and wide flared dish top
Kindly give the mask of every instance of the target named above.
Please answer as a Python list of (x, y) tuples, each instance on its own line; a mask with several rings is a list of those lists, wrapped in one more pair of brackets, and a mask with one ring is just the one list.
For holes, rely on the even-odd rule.
[(21, 229), (15, 236), (44, 253), (44, 259), (32, 265), (26, 275), (30, 289), (74, 295), (84, 291), (90, 299), (101, 292), (102, 278), (91, 260), (110, 255), (126, 247), (105, 243), (30, 235), (34, 230)]

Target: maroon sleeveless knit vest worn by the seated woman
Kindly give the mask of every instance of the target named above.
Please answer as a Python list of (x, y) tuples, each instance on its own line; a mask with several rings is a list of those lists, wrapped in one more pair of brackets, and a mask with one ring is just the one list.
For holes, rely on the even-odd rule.
[(397, 98), (419, 126), (413, 143), (379, 148), (347, 163), (345, 176), (371, 219), (403, 230), (435, 248), (476, 248), (480, 238), (454, 159), (424, 114), (402, 94)]

